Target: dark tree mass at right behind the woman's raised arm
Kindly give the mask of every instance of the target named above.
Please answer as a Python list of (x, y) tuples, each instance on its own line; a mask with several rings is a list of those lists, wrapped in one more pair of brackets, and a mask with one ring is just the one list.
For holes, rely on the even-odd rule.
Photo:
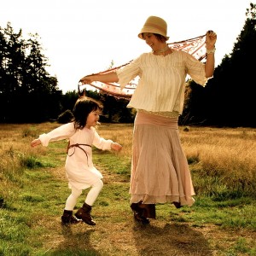
[(256, 127), (255, 65), (252, 64), (256, 60), (256, 4), (250, 3), (246, 16), (232, 53), (224, 56), (207, 86), (197, 90), (193, 88), (195, 82), (190, 84), (192, 92), (185, 109), (191, 107), (191, 113), (185, 111), (183, 121), (196, 118), (204, 125)]

